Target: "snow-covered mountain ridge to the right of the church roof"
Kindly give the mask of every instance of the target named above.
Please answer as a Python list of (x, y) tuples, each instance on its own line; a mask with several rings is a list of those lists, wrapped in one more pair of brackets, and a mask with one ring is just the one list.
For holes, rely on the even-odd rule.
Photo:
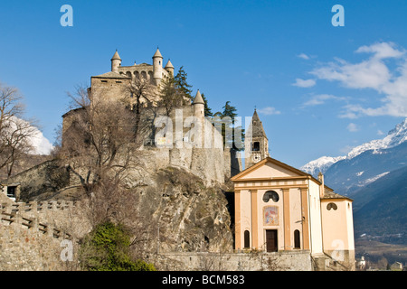
[(381, 154), (382, 150), (392, 148), (402, 144), (407, 140), (407, 118), (401, 124), (395, 126), (383, 139), (375, 139), (365, 144), (354, 147), (347, 155), (322, 156), (317, 160), (306, 163), (301, 170), (312, 175), (318, 172), (325, 173), (334, 163), (342, 160), (350, 160), (366, 151), (373, 151), (373, 154)]

